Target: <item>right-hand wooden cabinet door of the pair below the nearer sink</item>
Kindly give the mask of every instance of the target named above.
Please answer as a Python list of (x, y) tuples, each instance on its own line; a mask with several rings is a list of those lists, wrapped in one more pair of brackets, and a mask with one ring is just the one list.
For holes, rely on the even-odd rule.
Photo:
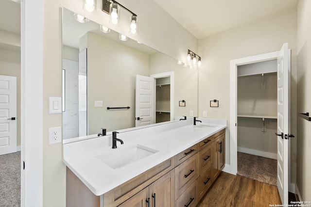
[(174, 171), (172, 170), (150, 184), (149, 198), (151, 207), (174, 206), (174, 180)]

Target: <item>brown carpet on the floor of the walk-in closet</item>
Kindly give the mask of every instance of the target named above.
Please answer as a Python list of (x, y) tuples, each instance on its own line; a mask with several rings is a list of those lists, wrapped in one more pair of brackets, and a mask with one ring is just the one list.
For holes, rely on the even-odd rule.
[(276, 159), (238, 152), (238, 175), (276, 186)]

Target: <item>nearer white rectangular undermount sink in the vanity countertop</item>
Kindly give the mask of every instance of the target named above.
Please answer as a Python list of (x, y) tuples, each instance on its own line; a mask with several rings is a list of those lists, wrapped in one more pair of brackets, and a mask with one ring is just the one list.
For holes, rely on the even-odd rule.
[(115, 149), (96, 158), (113, 169), (119, 169), (157, 152), (158, 150), (136, 144), (126, 148)]

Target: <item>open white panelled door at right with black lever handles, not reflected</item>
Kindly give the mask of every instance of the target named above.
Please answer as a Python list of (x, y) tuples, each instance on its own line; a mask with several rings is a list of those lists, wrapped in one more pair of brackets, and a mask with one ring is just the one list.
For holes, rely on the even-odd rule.
[(289, 136), (289, 65), (288, 44), (277, 57), (277, 189), (282, 204), (288, 204), (288, 136)]

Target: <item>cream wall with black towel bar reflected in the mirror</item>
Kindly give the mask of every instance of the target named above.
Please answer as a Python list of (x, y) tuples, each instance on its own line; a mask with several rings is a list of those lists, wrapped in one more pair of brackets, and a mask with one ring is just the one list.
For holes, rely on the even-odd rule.
[[(136, 75), (149, 76), (149, 55), (97, 34), (87, 34), (88, 134), (135, 127)], [(95, 107), (103, 101), (103, 107)], [(107, 110), (107, 107), (131, 107)]]

